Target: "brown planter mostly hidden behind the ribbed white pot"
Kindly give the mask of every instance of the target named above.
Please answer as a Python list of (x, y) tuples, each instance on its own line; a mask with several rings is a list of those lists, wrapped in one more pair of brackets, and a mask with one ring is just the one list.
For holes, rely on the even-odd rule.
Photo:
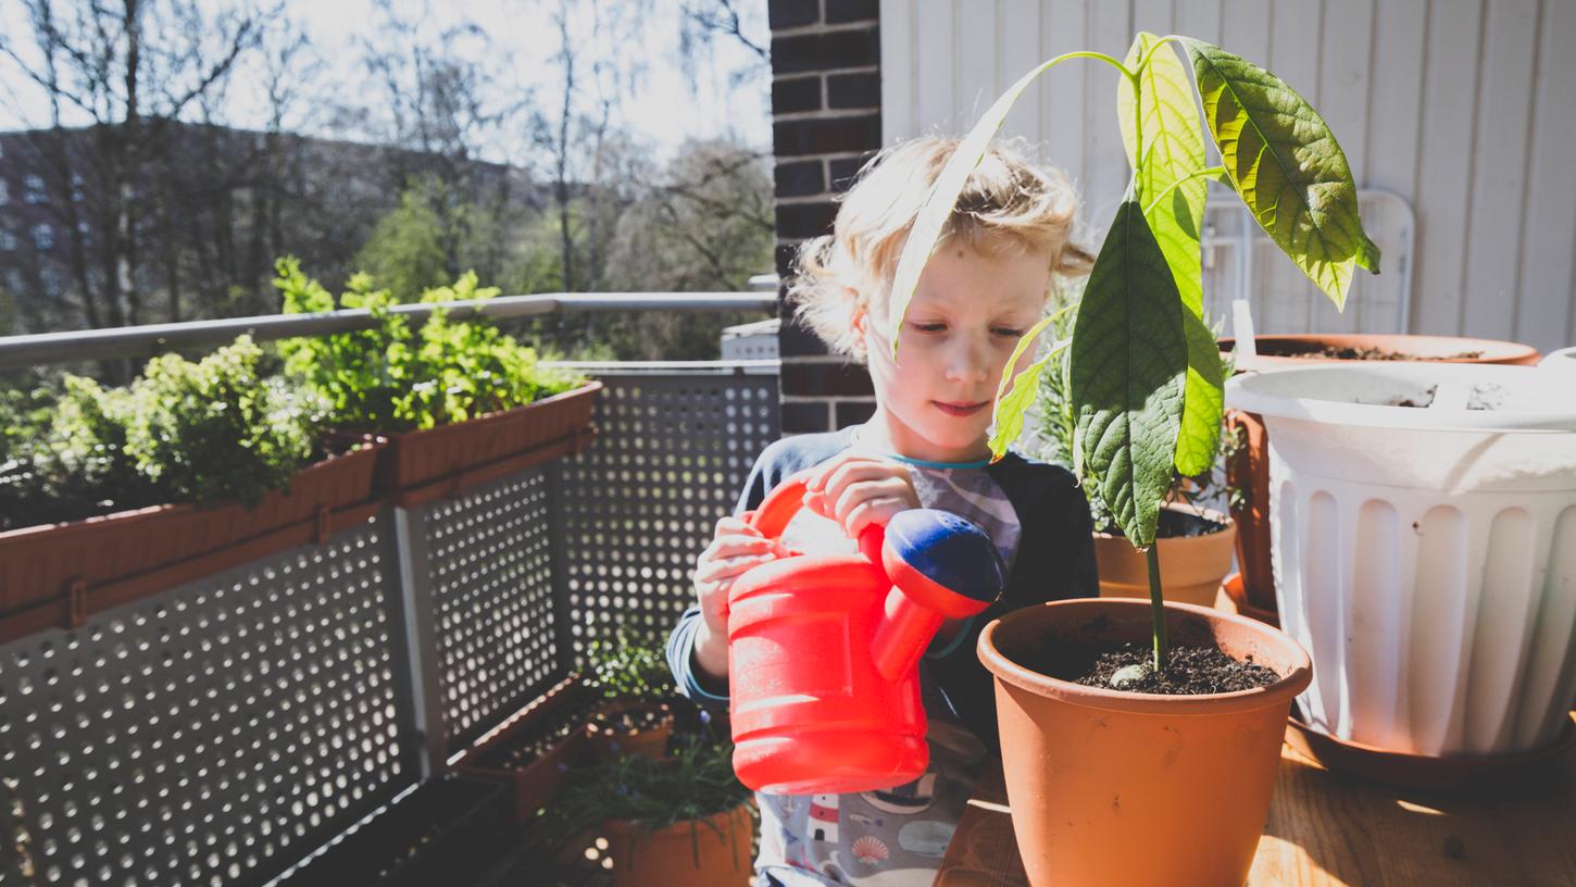
[[(1387, 336), (1387, 334), (1338, 334), (1300, 332), (1284, 336), (1254, 336), (1254, 345), (1266, 351), (1319, 351), (1333, 348), (1377, 348), (1406, 354), (1411, 361), (1439, 361), (1445, 364), (1519, 364), (1538, 362), (1538, 350), (1519, 342), (1497, 339), (1463, 339), (1455, 336)], [(1220, 350), (1236, 348), (1236, 339), (1221, 339)], [(1461, 358), (1477, 351), (1475, 358)], [(1319, 354), (1269, 356), (1261, 354), (1266, 369), (1305, 367), (1314, 362), (1357, 362)], [(1269, 433), (1258, 414), (1226, 411), (1226, 433), (1237, 435), (1240, 446), (1236, 458), (1226, 463), (1226, 482), (1243, 492), (1242, 504), (1231, 509), (1237, 521), (1237, 564), (1242, 569), (1243, 600), (1261, 613), (1275, 613), (1275, 572), (1270, 564), (1270, 451)]]

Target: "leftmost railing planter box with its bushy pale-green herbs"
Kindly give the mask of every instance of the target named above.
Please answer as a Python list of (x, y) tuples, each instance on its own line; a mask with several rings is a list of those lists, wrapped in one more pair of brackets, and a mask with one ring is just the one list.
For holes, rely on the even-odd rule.
[(307, 542), (375, 510), (380, 441), (325, 441), (328, 406), (246, 336), (162, 354), (126, 388), (68, 377), (0, 452), (0, 641)]

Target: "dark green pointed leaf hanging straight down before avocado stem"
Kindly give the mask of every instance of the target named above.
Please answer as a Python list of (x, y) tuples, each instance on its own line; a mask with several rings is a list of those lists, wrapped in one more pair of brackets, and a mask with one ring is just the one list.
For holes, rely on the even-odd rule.
[(1188, 366), (1184, 314), (1166, 257), (1128, 194), (1078, 307), (1070, 386), (1084, 473), (1138, 548), (1154, 544), (1171, 488)]

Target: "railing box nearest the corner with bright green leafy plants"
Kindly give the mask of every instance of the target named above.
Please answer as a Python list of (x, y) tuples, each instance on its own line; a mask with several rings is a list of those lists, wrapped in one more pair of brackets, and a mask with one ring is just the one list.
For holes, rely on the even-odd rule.
[[(362, 309), (374, 329), (281, 342), (285, 372), (333, 405), (348, 436), (380, 433), (378, 490), (396, 504), (452, 496), (591, 444), (591, 408), (602, 383), (542, 367), (536, 351), (487, 318), (443, 309), (418, 329), (392, 295), (356, 274), (336, 301), (296, 260), (281, 258), (274, 287), (285, 314)], [(474, 273), (422, 302), (479, 304), (498, 295)]]

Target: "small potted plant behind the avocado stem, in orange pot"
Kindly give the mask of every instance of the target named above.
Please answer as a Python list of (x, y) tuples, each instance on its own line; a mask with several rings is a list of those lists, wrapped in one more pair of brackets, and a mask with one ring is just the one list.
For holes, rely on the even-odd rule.
[[(1050, 331), (1056, 339), (1072, 336), (1078, 317), (1078, 293), (1070, 293)], [(1231, 375), (1231, 356), (1221, 354), (1221, 373)], [(1062, 351), (1040, 375), (1037, 411), (1040, 414), (1040, 455), (1073, 465), (1078, 421), (1072, 408), (1072, 359)], [(1218, 433), (1218, 432), (1217, 432)], [(1215, 444), (1218, 446), (1218, 444)], [(1229, 447), (1228, 447), (1229, 451)], [(1229, 454), (1228, 454), (1229, 458)], [(1231, 547), (1237, 525), (1218, 510), (1204, 507), (1223, 485), (1210, 465), (1195, 477), (1177, 473), (1168, 501), (1160, 510), (1155, 548), (1160, 558), (1160, 594), (1166, 600), (1214, 607), (1221, 581), (1231, 572)], [(1234, 493), (1229, 487), (1225, 495)], [(1144, 597), (1149, 592), (1149, 566), (1144, 555), (1122, 536), (1111, 509), (1092, 484), (1084, 484), (1089, 515), (1094, 520), (1094, 555), (1100, 570), (1102, 597)]]

